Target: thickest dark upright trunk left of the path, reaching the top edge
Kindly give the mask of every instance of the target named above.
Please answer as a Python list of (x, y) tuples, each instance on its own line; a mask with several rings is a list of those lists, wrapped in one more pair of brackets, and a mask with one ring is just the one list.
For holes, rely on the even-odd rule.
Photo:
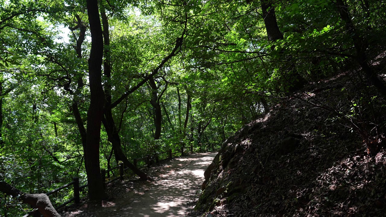
[(102, 88), (103, 37), (100, 25), (97, 0), (86, 0), (90, 22), (91, 52), (88, 59), (90, 83), (90, 107), (87, 111), (87, 141), (84, 149), (88, 195), (90, 200), (101, 201), (107, 198), (99, 164), (99, 141), (102, 124), (104, 94)]

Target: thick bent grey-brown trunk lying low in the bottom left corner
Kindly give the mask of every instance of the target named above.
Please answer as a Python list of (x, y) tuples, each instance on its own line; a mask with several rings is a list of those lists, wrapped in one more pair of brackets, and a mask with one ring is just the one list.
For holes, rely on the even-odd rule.
[(0, 181), (0, 191), (14, 198), (18, 198), (23, 203), (36, 207), (44, 217), (61, 217), (52, 206), (46, 194), (24, 193), (3, 181)]

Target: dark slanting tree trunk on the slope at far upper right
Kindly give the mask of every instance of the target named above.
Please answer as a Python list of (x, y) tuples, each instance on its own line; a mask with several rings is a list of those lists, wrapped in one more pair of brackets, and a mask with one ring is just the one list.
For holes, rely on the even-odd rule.
[(339, 10), (340, 18), (346, 23), (347, 33), (351, 36), (352, 41), (354, 42), (359, 65), (362, 67), (362, 70), (366, 74), (367, 78), (371, 81), (372, 85), (378, 89), (383, 97), (386, 97), (386, 86), (367, 63), (367, 43), (365, 42), (365, 39), (361, 38), (359, 34), (357, 34), (354, 24), (352, 23), (352, 17), (347, 10), (347, 5), (345, 5), (342, 0), (336, 0), (336, 4)]

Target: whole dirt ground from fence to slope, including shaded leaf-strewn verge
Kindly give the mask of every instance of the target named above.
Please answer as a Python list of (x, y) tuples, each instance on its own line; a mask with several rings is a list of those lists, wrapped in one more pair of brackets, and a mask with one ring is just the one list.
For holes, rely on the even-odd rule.
[(110, 199), (102, 207), (82, 205), (69, 207), (63, 217), (178, 217), (200, 191), (204, 171), (217, 152), (198, 153), (175, 158), (151, 167), (147, 174), (154, 181), (124, 180), (107, 186)]

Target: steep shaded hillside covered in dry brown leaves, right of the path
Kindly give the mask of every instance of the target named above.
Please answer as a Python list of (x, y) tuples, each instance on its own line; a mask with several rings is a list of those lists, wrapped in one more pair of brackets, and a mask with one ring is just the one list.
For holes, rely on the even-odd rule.
[[(384, 55), (372, 64), (384, 71)], [(227, 139), (193, 215), (386, 216), (385, 101), (358, 71), (283, 98)]]

